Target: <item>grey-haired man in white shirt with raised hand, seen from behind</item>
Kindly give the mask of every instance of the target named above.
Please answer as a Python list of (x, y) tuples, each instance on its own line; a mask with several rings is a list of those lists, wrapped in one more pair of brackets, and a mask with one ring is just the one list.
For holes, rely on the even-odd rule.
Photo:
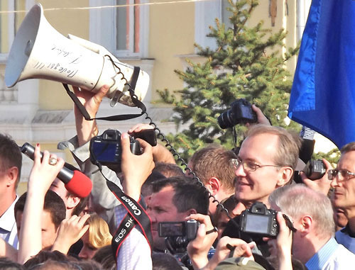
[(297, 184), (274, 191), (270, 198), (272, 208), (287, 214), (297, 229), (292, 234), (282, 216), (278, 216), (280, 233), (277, 240), (268, 242), (271, 254), (275, 255), (272, 250), (278, 250), (277, 257), (288, 259), (290, 264), (292, 243), (293, 257), (307, 269), (351, 268), (355, 254), (334, 239), (333, 209), (327, 196)]

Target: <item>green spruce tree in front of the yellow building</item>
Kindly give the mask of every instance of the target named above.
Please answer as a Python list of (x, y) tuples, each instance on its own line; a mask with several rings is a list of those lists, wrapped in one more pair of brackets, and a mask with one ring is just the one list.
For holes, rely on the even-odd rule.
[[(217, 117), (236, 99), (255, 103), (273, 125), (287, 126), (292, 81), (285, 62), (297, 53), (298, 47), (282, 54), (285, 30), (272, 33), (263, 28), (263, 21), (249, 26), (258, 1), (229, 0), (229, 5), (231, 27), (226, 28), (218, 19), (214, 27), (209, 27), (207, 36), (215, 39), (217, 48), (195, 44), (197, 54), (205, 61), (200, 64), (187, 60), (186, 71), (175, 70), (186, 87), (173, 94), (168, 89), (158, 90), (165, 103), (173, 104), (175, 123), (185, 127), (168, 136), (185, 159), (207, 143), (233, 147), (232, 130), (219, 128)], [(243, 125), (236, 125), (239, 142), (244, 130)]]

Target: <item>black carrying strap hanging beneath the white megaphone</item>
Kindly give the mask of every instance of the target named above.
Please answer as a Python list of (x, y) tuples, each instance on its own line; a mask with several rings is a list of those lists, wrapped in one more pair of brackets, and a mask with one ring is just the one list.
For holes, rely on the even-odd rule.
[(75, 94), (70, 91), (69, 86), (67, 84), (63, 84), (65, 91), (67, 91), (67, 94), (70, 96), (70, 99), (75, 103), (75, 106), (77, 106), (77, 109), (82, 113), (82, 116), (84, 116), (85, 120), (107, 120), (107, 121), (121, 121), (121, 120), (129, 120), (133, 118), (137, 118), (140, 116), (143, 116), (144, 113), (146, 113), (147, 109), (146, 106), (141, 102), (136, 94), (134, 94), (134, 89), (136, 88), (136, 83), (138, 80), (138, 75), (140, 72), (141, 68), (140, 67), (134, 67), (133, 68), (133, 74), (131, 77), (130, 83), (126, 82), (124, 85), (125, 88), (127, 88), (127, 91), (129, 91), (129, 95), (131, 96), (131, 101), (133, 104), (141, 109), (141, 113), (132, 113), (132, 114), (121, 114), (121, 115), (116, 115), (116, 116), (104, 116), (104, 117), (98, 117), (98, 118), (91, 118), (89, 116), (89, 113), (87, 113), (86, 108), (82, 105), (80, 100), (75, 96)]

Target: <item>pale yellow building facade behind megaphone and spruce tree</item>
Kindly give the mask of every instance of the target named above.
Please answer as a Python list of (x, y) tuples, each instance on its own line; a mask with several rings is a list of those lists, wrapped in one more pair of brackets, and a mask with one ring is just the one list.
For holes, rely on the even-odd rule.
[[(266, 28), (288, 30), (286, 47), (295, 47), (300, 40), (307, 19), (310, 0), (259, 0), (251, 24), (264, 21)], [(69, 152), (57, 150), (57, 143), (75, 135), (72, 113), (73, 103), (62, 84), (43, 79), (21, 81), (12, 88), (4, 83), (4, 73), (9, 50), (26, 11), (40, 3), (45, 18), (51, 26), (90, 40), (107, 48), (121, 62), (137, 65), (150, 76), (148, 94), (144, 103), (148, 114), (158, 123), (163, 133), (175, 132), (175, 124), (166, 121), (171, 108), (154, 101), (156, 89), (182, 89), (183, 82), (174, 69), (185, 69), (186, 58), (202, 61), (196, 55), (194, 43), (215, 46), (207, 38), (214, 18), (228, 21), (226, 0), (169, 1), (169, 0), (0, 0), (0, 129), (13, 137), (18, 145), (24, 142), (42, 145), (42, 149), (55, 152), (67, 162), (73, 162)], [(43, 33), (48, 35), (50, 33)], [(59, 42), (59, 40), (58, 40)], [(288, 63), (293, 72), (295, 60)], [(99, 116), (137, 113), (135, 108), (109, 106), (105, 100)], [(107, 128), (128, 130), (144, 119), (121, 123), (99, 122), (100, 133)], [(18, 193), (26, 189), (26, 180), (32, 162), (23, 157), (23, 170)]]

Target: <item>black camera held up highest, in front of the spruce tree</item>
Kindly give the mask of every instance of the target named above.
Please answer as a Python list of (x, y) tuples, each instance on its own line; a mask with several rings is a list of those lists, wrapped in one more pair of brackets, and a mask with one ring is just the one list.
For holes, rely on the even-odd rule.
[(246, 99), (237, 99), (231, 103), (231, 108), (218, 116), (218, 125), (222, 129), (233, 128), (240, 123), (256, 123), (258, 118)]

